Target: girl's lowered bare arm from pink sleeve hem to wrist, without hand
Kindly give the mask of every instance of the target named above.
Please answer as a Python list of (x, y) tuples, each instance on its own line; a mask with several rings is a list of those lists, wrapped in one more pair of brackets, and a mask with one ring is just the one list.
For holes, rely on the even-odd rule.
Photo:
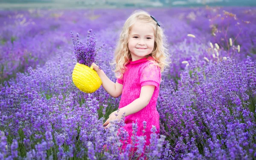
[(133, 102), (131, 102), (129, 105), (120, 108), (120, 111), (118, 113), (124, 113), (125, 116), (128, 116), (130, 114), (136, 113), (140, 110), (142, 110), (144, 107), (146, 107), (154, 93), (154, 85), (145, 85), (141, 87), (140, 90), (140, 97), (135, 99)]

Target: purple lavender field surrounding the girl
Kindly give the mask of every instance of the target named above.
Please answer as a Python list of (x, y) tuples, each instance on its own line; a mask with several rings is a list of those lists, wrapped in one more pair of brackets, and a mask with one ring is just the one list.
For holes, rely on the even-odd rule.
[[(70, 32), (103, 43), (96, 62), (116, 81), (109, 62), (134, 9), (0, 11), (0, 160), (135, 160), (145, 141), (103, 123), (119, 106), (103, 87), (81, 92)], [(162, 74), (148, 160), (256, 160), (256, 8), (145, 9), (167, 35), (172, 63)], [(148, 126), (151, 127), (151, 126)], [(135, 153), (129, 147), (138, 144)], [(108, 151), (103, 145), (110, 146)]]

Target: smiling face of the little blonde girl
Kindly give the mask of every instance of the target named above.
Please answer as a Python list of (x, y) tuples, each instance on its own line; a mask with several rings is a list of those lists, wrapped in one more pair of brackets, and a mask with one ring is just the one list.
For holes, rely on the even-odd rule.
[(154, 49), (154, 41), (154, 27), (151, 23), (134, 23), (128, 40), (132, 61), (149, 55)]

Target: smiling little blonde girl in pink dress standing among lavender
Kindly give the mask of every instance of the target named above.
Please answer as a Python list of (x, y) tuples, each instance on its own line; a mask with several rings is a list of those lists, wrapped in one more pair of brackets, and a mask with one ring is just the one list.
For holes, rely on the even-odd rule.
[[(131, 144), (132, 122), (135, 123), (136, 119), (137, 136), (146, 136), (145, 145), (150, 144), (152, 125), (156, 127), (158, 136), (160, 134), (156, 104), (161, 72), (169, 65), (167, 48), (166, 37), (158, 21), (145, 11), (135, 11), (125, 21), (115, 50), (112, 64), (116, 64), (116, 83), (93, 63), (93, 69), (102, 80), (102, 87), (113, 97), (122, 94), (118, 116), (114, 111), (103, 126), (108, 128), (110, 121), (120, 120), (125, 113), (124, 128), (129, 134), (128, 144)], [(146, 121), (144, 134), (143, 121)], [(122, 149), (125, 147), (126, 144), (123, 144)]]

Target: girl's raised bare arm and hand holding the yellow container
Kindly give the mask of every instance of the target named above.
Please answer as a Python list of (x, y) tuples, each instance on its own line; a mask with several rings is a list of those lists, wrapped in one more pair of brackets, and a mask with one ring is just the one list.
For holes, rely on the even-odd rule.
[(103, 72), (103, 70), (99, 70), (99, 67), (93, 63), (93, 69), (99, 75), (99, 78), (102, 80), (102, 87), (110, 94), (112, 97), (119, 97), (122, 94), (122, 84), (119, 84), (117, 81), (114, 83), (111, 81), (108, 76)]

